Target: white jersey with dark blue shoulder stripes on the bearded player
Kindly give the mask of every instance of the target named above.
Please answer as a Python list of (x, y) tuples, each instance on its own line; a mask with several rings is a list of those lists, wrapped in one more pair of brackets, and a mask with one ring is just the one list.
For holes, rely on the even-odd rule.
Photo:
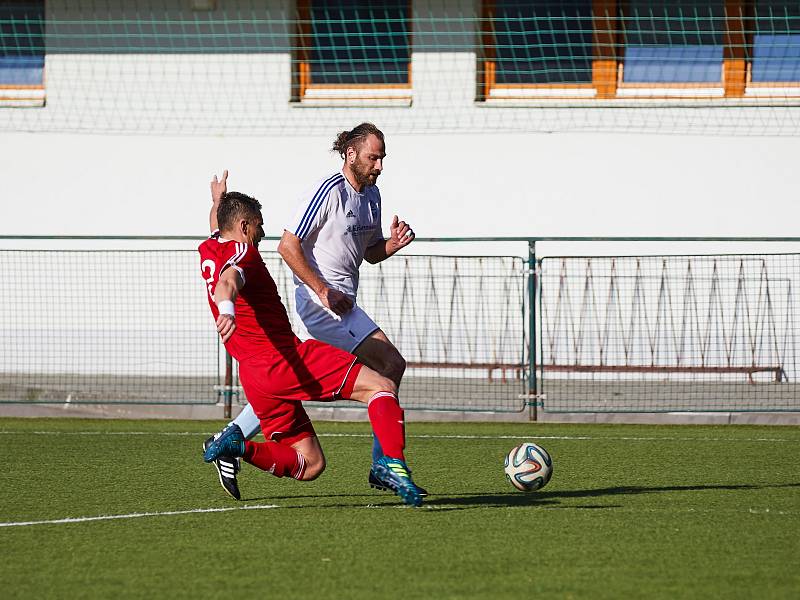
[[(374, 185), (359, 193), (341, 172), (334, 173), (303, 194), (286, 230), (300, 238), (306, 260), (323, 281), (355, 300), (364, 252), (383, 240), (381, 194)], [(294, 282), (304, 285), (296, 275)]]

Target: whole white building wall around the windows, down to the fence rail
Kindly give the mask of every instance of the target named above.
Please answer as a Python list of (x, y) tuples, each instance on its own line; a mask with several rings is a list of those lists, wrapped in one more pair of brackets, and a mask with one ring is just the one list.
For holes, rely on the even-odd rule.
[[(473, 0), (414, 3), (412, 106), (302, 107), (289, 102), (289, 4), (253, 15), (271, 19), (250, 32), (269, 41), (254, 55), (148, 53), (130, 38), (78, 53), (91, 6), (48, 2), (62, 29), (47, 105), (0, 108), (0, 233), (201, 235), (208, 181), (227, 168), (277, 236), (297, 194), (338, 168), (334, 135), (363, 120), (387, 134), (387, 217), (420, 237), (798, 233), (798, 108), (483, 106), (465, 51)], [(108, 5), (120, 21), (137, 14)], [(158, 18), (181, 15), (182, 2), (165, 6)], [(225, 2), (245, 17), (251, 6)]]

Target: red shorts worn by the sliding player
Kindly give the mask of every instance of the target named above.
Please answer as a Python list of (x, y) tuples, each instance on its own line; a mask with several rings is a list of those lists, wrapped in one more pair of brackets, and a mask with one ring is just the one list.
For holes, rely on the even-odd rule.
[(349, 398), (361, 367), (349, 352), (307, 340), (240, 363), (239, 379), (264, 437), (292, 444), (315, 435), (301, 402)]

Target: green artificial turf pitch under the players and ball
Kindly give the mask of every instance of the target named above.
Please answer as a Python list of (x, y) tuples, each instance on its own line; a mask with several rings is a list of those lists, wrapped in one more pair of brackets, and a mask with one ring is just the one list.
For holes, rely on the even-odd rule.
[[(800, 428), (409, 423), (413, 509), (367, 486), (363, 423), (317, 424), (314, 482), (244, 465), (235, 502), (220, 424), (0, 419), (0, 595), (800, 596)], [(554, 461), (530, 494), (502, 468), (525, 440)], [(235, 510), (164, 514), (197, 509)]]

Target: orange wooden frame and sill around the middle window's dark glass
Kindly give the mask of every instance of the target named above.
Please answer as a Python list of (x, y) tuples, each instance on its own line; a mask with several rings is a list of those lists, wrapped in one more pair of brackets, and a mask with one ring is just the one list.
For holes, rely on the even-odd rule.
[(324, 106), (410, 106), (412, 99), (411, 63), (413, 54), (413, 6), (406, 0), (408, 31), (407, 83), (314, 83), (311, 52), (314, 47), (311, 4), (314, 0), (296, 0), (296, 44), (292, 51), (291, 101)]

